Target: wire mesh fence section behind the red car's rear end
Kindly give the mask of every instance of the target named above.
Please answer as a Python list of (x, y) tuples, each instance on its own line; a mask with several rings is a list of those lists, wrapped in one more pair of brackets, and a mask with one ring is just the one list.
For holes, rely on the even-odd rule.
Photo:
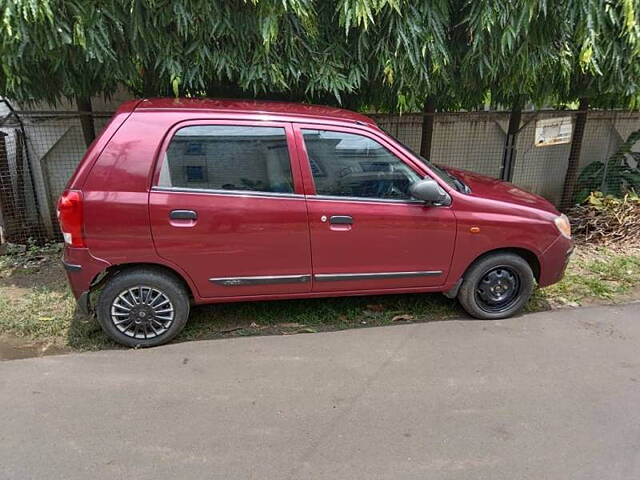
[[(96, 133), (111, 113), (88, 114)], [(62, 239), (57, 199), (87, 148), (78, 112), (16, 112), (0, 100), (2, 240), (38, 244)]]

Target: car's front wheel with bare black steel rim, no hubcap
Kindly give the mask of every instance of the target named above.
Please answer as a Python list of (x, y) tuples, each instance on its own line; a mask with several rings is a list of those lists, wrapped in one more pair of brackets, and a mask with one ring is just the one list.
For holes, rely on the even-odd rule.
[(515, 315), (529, 301), (535, 278), (527, 261), (514, 253), (494, 253), (464, 274), (458, 301), (472, 317), (495, 320)]

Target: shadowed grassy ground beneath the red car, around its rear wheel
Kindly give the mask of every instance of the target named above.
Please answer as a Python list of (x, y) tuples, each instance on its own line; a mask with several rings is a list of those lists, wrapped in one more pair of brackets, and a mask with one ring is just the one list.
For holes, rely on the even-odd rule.
[[(456, 300), (441, 294), (402, 294), (199, 305), (173, 340), (186, 342), (259, 335), (292, 335), (445, 320), (473, 321)], [(76, 309), (67, 344), (72, 349), (125, 348)]]

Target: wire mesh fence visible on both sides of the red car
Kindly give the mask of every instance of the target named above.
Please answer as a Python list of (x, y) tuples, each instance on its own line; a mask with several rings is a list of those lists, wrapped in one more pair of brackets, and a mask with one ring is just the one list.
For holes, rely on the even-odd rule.
[[(81, 117), (77, 112), (5, 109), (5, 113), (0, 115), (2, 240), (59, 240), (56, 201), (86, 150)], [(619, 195), (640, 187), (638, 112), (588, 113), (578, 182), (569, 201), (565, 198), (564, 202), (576, 112), (523, 112), (520, 129), (512, 138), (507, 134), (509, 112), (432, 115), (429, 128), (425, 128), (429, 114), (371, 116), (413, 150), (426, 148), (434, 163), (510, 180), (563, 209), (592, 190)], [(91, 114), (97, 134), (110, 116)], [(425, 146), (429, 131), (431, 141)], [(511, 143), (512, 148), (505, 148)]]

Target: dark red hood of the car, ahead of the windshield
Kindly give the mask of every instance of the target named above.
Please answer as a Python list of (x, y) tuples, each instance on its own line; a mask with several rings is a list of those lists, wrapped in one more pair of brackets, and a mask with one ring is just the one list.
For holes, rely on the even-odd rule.
[(484, 175), (478, 175), (477, 173), (466, 170), (458, 170), (456, 168), (449, 167), (442, 168), (469, 185), (472, 195), (491, 200), (498, 200), (500, 202), (515, 203), (525, 207), (537, 208), (539, 210), (559, 215), (558, 210), (551, 202), (539, 195), (522, 190), (512, 183), (503, 182), (491, 177), (485, 177)]

